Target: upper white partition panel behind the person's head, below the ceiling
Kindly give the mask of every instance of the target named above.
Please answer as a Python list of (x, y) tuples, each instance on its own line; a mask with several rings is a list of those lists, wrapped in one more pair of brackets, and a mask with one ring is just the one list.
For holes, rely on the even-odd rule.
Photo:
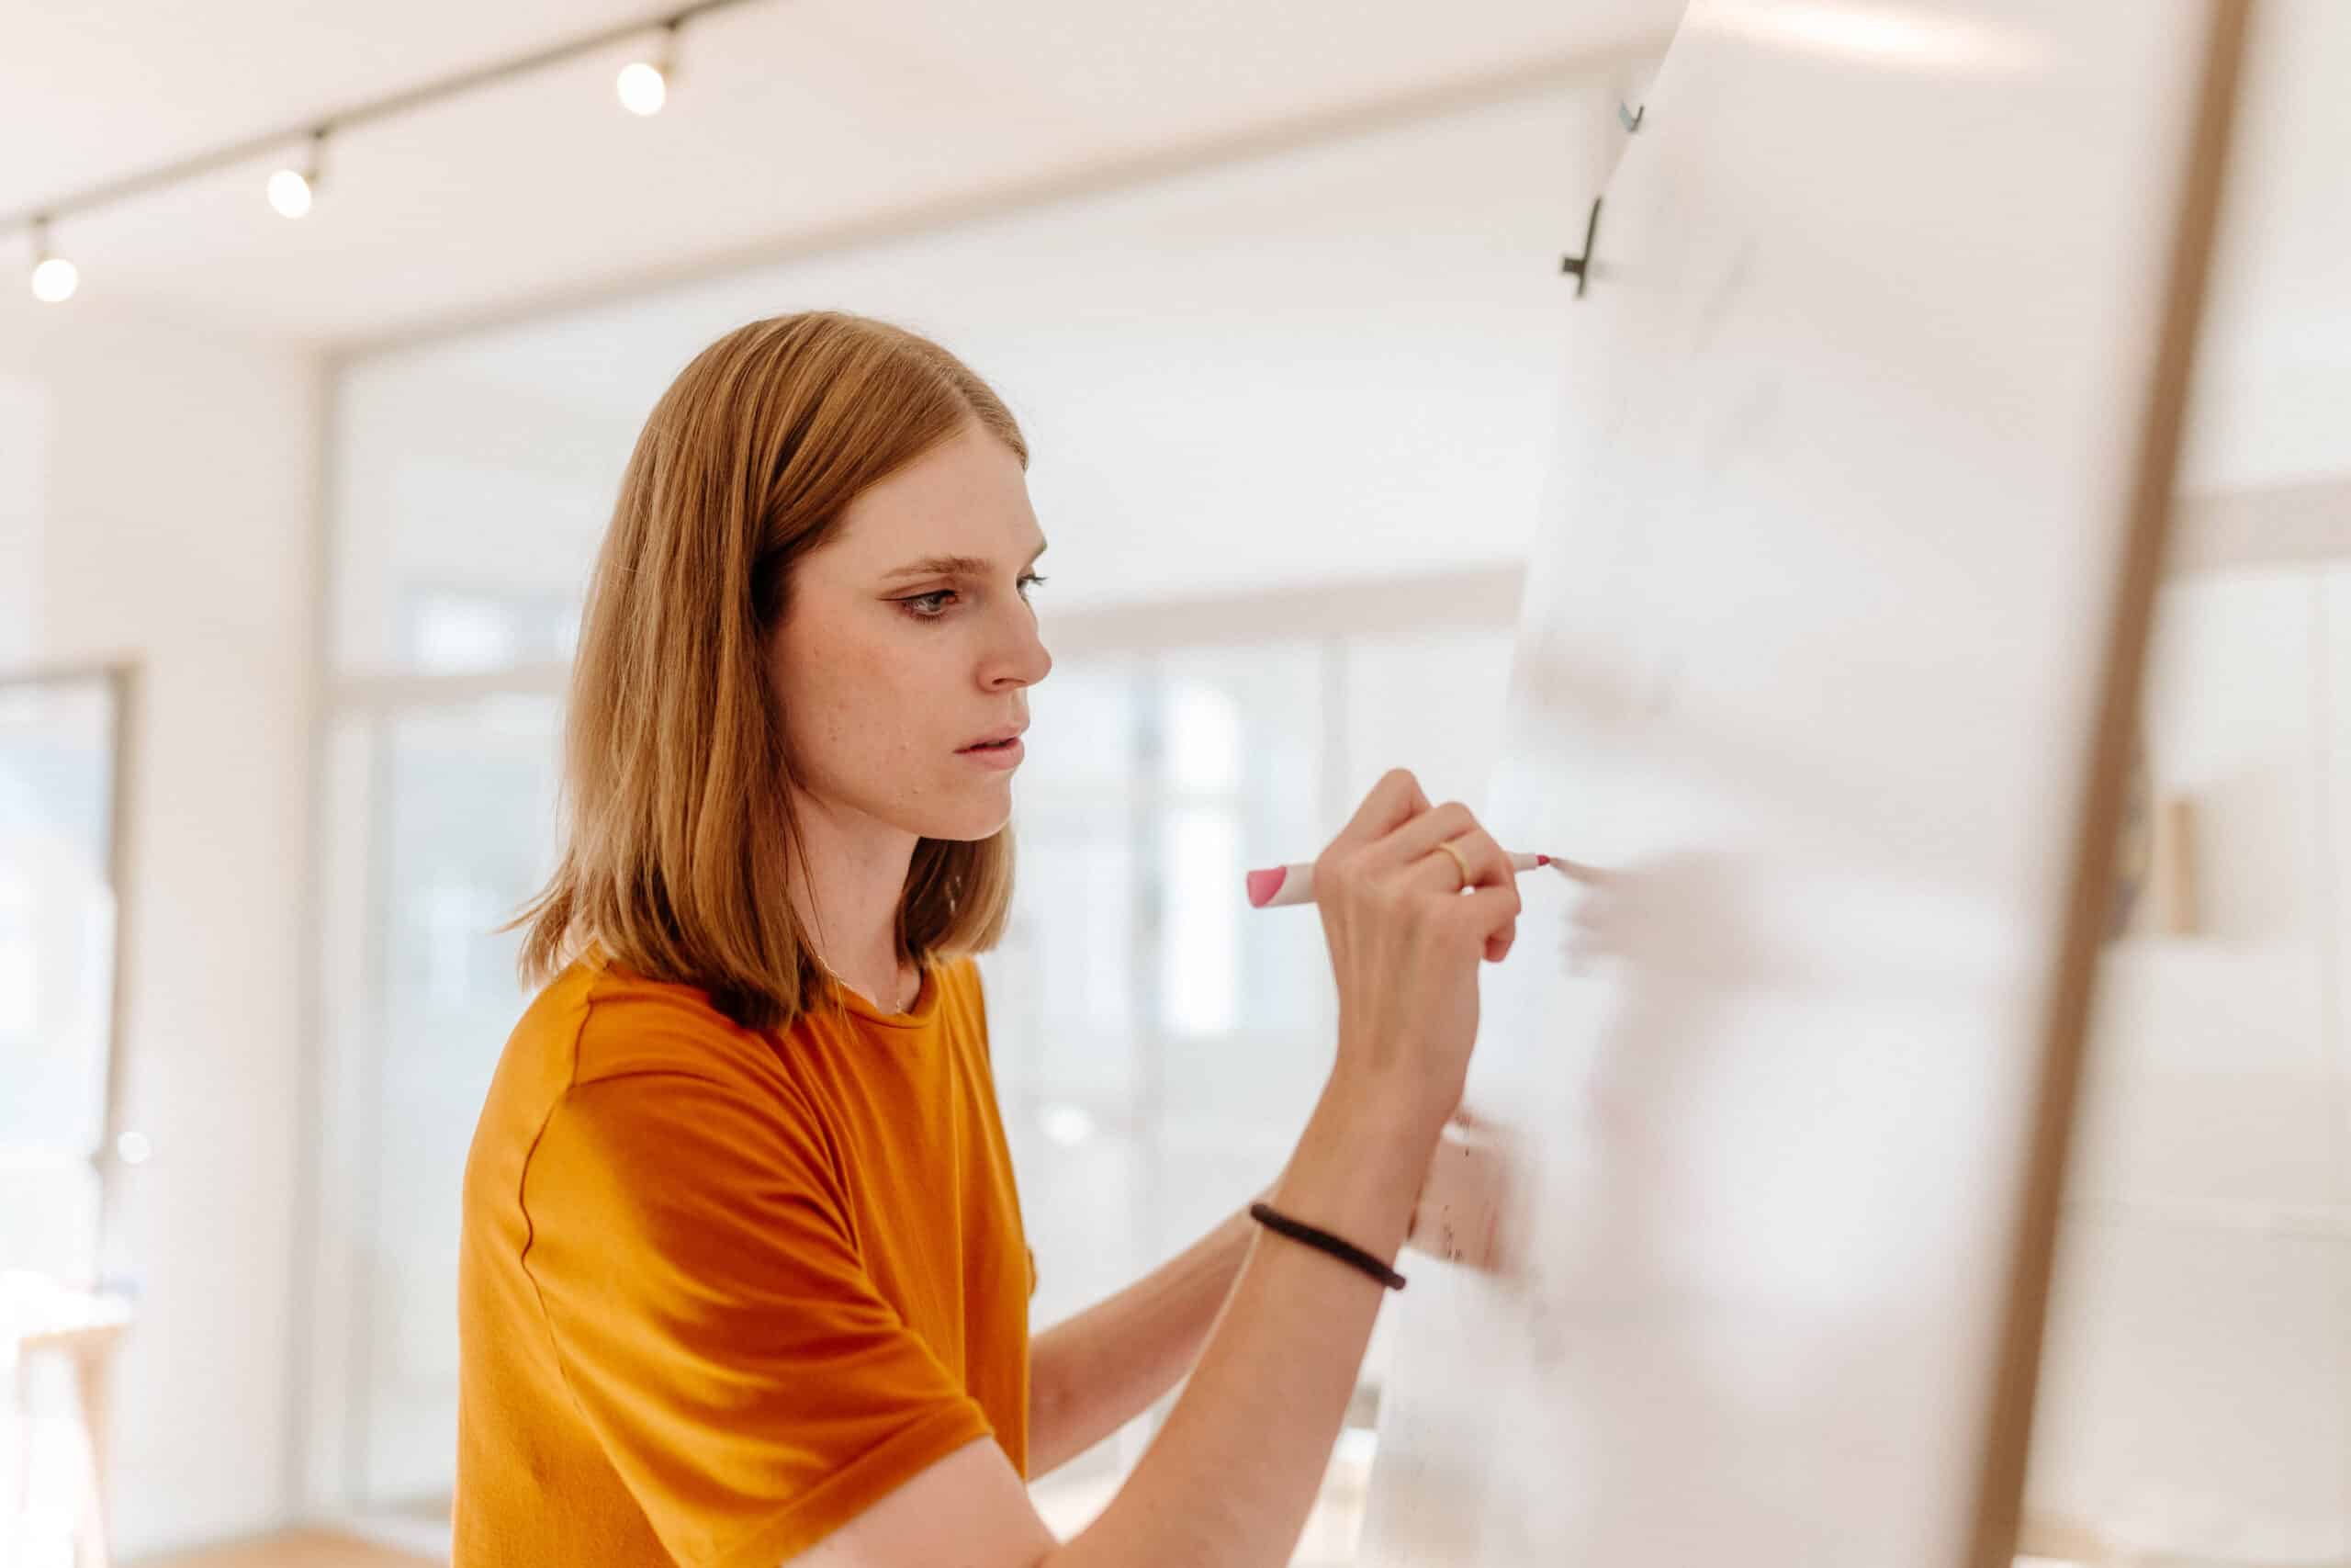
[(336, 414), (343, 668), (409, 583), (576, 592), (628, 447), (703, 346), (783, 310), (938, 336), (1027, 425), (1056, 609), (1498, 567), (1552, 449), (1606, 85), (597, 310), (367, 355)]

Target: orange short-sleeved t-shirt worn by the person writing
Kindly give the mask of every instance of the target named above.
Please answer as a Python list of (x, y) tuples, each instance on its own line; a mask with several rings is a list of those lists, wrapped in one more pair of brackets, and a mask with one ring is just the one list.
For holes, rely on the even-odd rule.
[(785, 1034), (574, 964), (465, 1161), (456, 1568), (776, 1568), (994, 1436), (1020, 1229), (971, 959)]

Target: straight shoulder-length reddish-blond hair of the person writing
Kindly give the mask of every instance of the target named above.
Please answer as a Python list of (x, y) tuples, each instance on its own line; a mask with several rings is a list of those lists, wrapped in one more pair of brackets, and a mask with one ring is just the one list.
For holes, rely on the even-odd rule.
[[(750, 1030), (788, 1030), (828, 994), (785, 893), (806, 858), (771, 632), (842, 510), (973, 421), (1027, 465), (1020, 425), (962, 360), (835, 310), (738, 327), (661, 395), (581, 621), (562, 858), (505, 926), (527, 926), (527, 985), (595, 957), (696, 985)], [(1011, 827), (922, 839), (898, 940), (919, 966), (985, 952), (1011, 889)]]

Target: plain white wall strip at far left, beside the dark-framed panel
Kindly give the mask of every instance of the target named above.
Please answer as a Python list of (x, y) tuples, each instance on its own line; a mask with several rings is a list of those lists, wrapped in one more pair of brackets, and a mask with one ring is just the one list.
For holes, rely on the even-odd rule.
[(268, 343), (9, 292), (0, 614), (33, 614), (0, 654), (141, 665), (120, 1051), (125, 1126), (155, 1152), (120, 1178), (110, 1248), (141, 1284), (113, 1399), (136, 1556), (287, 1505), (322, 378)]

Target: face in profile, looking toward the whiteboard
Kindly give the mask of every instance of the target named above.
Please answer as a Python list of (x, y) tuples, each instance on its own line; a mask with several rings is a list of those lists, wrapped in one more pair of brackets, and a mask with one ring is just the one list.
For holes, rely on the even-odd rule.
[(1020, 458), (983, 425), (858, 496), (792, 569), (769, 644), (785, 741), (835, 820), (985, 839), (1013, 811), (1037, 639), (1030, 567), (1044, 550)]

